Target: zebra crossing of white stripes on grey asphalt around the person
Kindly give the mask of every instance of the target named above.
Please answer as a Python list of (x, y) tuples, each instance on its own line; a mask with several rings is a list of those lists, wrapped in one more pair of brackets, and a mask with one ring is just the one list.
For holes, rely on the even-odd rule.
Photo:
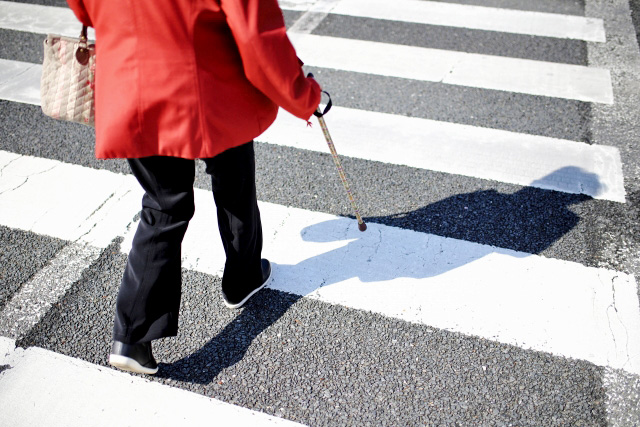
[[(270, 290), (256, 302), (266, 314), (215, 304), (215, 286), (208, 288), (224, 253), (200, 175), (183, 245), (191, 283), (184, 284), (182, 335), (159, 343), (165, 364), (154, 381), (168, 393), (217, 399), (194, 404), (194, 413), (226, 408), (264, 423), (640, 423), (640, 271), (628, 267), (640, 248), (637, 144), (629, 140), (633, 123), (613, 119), (635, 86), (620, 71), (630, 72), (628, 62), (603, 65), (612, 43), (626, 46), (620, 28), (631, 35), (633, 28), (595, 0), (585, 8), (599, 14), (586, 16), (504, 3), (281, 1), (298, 55), (337, 104), (327, 123), (369, 228), (360, 233), (345, 217), (317, 126), (281, 112), (256, 143), (264, 255), (274, 265)], [(327, 34), (334, 22), (349, 25)], [(378, 23), (418, 26), (405, 34), (419, 40), (385, 39)], [(429, 46), (432, 28), (492, 34), (505, 51), (513, 37), (528, 37), (558, 49), (583, 43), (587, 54), (569, 64), (445, 50)], [(66, 8), (0, 1), (4, 40), (77, 30)], [(9, 261), (0, 277), (16, 283), (0, 293), (8, 355), (0, 365), (17, 358), (15, 340), (33, 346), (28, 357), (72, 364), (70, 377), (88, 363), (82, 369), (99, 382), (110, 340), (105, 322), (141, 190), (121, 162), (91, 158), (88, 129), (42, 116), (36, 60), (6, 56), (0, 238), (17, 249), (1, 254)], [(407, 87), (415, 90), (400, 89)], [(460, 99), (460, 110), (434, 106), (437, 93)], [(507, 118), (516, 107), (530, 111), (508, 125), (478, 123), (462, 117), (467, 103)], [(536, 111), (589, 130), (577, 138), (565, 125), (536, 121)], [(39, 271), (21, 273), (18, 260), (41, 238), (62, 249)], [(16, 380), (25, 364), (5, 384), (27, 387)], [(11, 368), (4, 372), (0, 390)], [(123, 375), (105, 381), (125, 387)]]

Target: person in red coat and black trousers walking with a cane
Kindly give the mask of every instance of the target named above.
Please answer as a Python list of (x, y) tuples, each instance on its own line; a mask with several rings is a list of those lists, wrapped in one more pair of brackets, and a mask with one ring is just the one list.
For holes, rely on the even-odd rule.
[(308, 120), (305, 77), (277, 0), (67, 0), (96, 32), (96, 157), (126, 158), (145, 191), (116, 301), (109, 363), (154, 374), (175, 336), (195, 159), (211, 176), (226, 253), (222, 294), (240, 308), (271, 276), (261, 258), (253, 139), (278, 107)]

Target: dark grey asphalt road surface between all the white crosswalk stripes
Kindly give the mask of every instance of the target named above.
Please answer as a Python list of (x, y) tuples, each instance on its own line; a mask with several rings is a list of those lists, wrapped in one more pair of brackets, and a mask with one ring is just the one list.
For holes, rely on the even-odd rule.
[[(60, 0), (21, 3), (64, 6)], [(640, 2), (630, 2), (633, 15), (621, 0), (455, 3), (603, 17), (609, 37), (596, 46), (331, 14), (314, 34), (611, 67), (614, 105), (309, 70), (342, 107), (615, 146), (627, 202), (344, 158), (367, 222), (640, 277), (640, 88), (634, 68), (640, 55), (637, 40), (630, 41), (635, 34), (626, 27), (633, 22), (637, 31)], [(288, 25), (300, 15), (286, 12)], [(41, 39), (0, 29), (0, 58), (38, 63), (35, 46)], [(351, 215), (328, 153), (257, 141), (261, 201)], [(340, 151), (340, 142), (336, 145)], [(0, 100), (0, 150), (128, 173), (122, 160), (93, 157), (92, 130), (5, 100)], [(196, 187), (210, 188), (201, 164)], [(5, 326), (0, 336), (16, 339), (21, 348), (107, 369), (115, 296), (126, 263), (121, 241), (116, 238), (102, 250), (33, 328), (14, 334)], [(0, 226), (0, 311), (71, 244)], [(162, 363), (151, 382), (313, 426), (640, 425), (638, 375), (273, 289), (257, 294), (244, 310), (229, 311), (219, 282), (213, 275), (183, 271), (180, 334), (155, 344)], [(10, 370), (0, 361), (0, 387)], [(0, 425), (12, 423), (0, 416)]]

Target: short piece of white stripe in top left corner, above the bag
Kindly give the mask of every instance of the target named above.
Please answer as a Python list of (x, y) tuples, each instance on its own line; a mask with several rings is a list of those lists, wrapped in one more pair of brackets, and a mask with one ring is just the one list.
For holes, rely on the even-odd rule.
[[(66, 7), (0, 1), (0, 28), (78, 37), (82, 24), (71, 9)], [(92, 28), (89, 29), (88, 36), (95, 39)]]

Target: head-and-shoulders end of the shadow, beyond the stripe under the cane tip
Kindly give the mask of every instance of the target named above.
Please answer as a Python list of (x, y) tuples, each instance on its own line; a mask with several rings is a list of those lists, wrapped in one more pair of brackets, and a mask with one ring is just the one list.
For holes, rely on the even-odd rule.
[(603, 191), (597, 175), (568, 166), (515, 193), (482, 190), (457, 194), (414, 211), (370, 217), (368, 221), (539, 254), (580, 222), (570, 207), (591, 199), (585, 194), (542, 189), (567, 180), (589, 194)]

